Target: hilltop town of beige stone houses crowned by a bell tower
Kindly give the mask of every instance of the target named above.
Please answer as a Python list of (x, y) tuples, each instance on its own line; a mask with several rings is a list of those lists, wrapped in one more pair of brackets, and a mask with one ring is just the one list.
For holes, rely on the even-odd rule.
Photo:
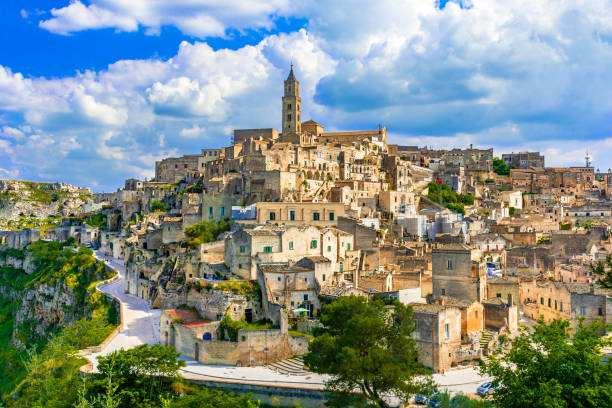
[(328, 132), (303, 121), (293, 67), (282, 90), (281, 129), (236, 129), (93, 199), (75, 190), (81, 207), (57, 225), (7, 228), (1, 245), (74, 239), (122, 260), (125, 292), (161, 311), (159, 342), (203, 364), (301, 375), (292, 357), (322, 305), (350, 295), (410, 305), (436, 373), (478, 364), (520, 325), (612, 324), (594, 272), (612, 251), (612, 172), (588, 154), (547, 167), (538, 152), (389, 144), (382, 125)]

